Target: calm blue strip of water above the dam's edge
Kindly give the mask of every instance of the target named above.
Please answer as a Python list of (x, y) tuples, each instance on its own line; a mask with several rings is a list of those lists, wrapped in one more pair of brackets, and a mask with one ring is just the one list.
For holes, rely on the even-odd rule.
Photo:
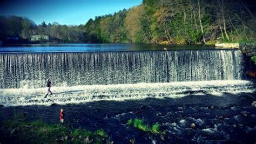
[(0, 53), (11, 52), (92, 52), (214, 49), (214, 46), (147, 45), (147, 44), (29, 44), (0, 47)]

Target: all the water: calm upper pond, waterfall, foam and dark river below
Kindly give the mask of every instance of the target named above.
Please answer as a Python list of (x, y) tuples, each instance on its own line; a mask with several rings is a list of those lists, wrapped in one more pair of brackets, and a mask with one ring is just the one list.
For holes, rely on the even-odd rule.
[[(103, 128), (117, 143), (255, 143), (255, 84), (245, 65), (239, 50), (207, 46), (1, 47), (1, 115), (58, 123), (64, 108), (70, 126)], [(54, 94), (44, 97), (48, 78)], [(134, 118), (159, 122), (165, 140), (125, 125)]]

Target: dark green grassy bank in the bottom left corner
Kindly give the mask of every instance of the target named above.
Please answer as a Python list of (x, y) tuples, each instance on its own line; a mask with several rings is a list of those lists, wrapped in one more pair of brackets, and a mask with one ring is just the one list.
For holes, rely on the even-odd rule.
[(3, 121), (1, 143), (106, 143), (109, 136), (103, 129), (95, 132), (71, 129), (67, 125), (46, 124), (44, 121), (26, 121), (24, 116), (14, 114)]

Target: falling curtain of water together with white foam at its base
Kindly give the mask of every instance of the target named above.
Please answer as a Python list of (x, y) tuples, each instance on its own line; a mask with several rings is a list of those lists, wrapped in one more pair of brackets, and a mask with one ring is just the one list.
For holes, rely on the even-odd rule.
[[(0, 104), (177, 97), (251, 90), (239, 50), (0, 54)], [(45, 79), (53, 97), (43, 97)], [(198, 82), (200, 81), (200, 82)]]

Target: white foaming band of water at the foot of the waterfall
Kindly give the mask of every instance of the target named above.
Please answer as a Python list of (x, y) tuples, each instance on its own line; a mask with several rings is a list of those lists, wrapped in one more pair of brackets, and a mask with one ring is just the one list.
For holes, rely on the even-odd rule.
[[(191, 91), (192, 90), (192, 91)], [(44, 98), (46, 88), (0, 89), (4, 106), (78, 104), (98, 100), (139, 100), (145, 98), (181, 98), (197, 93), (253, 92), (246, 80), (183, 81), (172, 83), (139, 83), (117, 85), (80, 85), (52, 87), (53, 95)], [(220, 97), (220, 95), (216, 95)], [(203, 95), (202, 95), (203, 97)]]

